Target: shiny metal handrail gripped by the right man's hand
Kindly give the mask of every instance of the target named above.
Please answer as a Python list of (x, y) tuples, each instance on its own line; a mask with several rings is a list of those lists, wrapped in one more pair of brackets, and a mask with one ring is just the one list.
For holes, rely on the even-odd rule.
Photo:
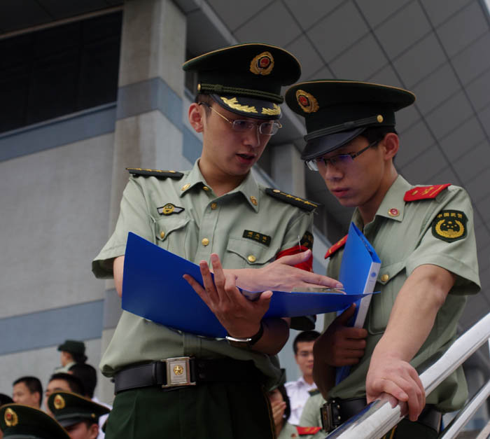
[[(475, 323), (451, 347), (420, 375), (423, 388), (428, 395), (486, 340), (490, 338), (490, 313)], [(407, 414), (407, 404), (399, 403), (391, 396), (379, 398), (363, 411), (344, 422), (327, 438), (361, 439), (380, 438), (391, 430)]]

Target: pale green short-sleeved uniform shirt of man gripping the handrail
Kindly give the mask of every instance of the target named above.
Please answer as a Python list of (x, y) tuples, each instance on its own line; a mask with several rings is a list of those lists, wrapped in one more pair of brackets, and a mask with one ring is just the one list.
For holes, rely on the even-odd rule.
[[(359, 211), (354, 211), (352, 221), (363, 230), (381, 259), (378, 283), (374, 288), (374, 291), (380, 290), (381, 293), (373, 296), (364, 324), (368, 331), (365, 355), (358, 365), (351, 368), (349, 376), (330, 390), (329, 397), (365, 396), (365, 378), (372, 351), (384, 333), (398, 291), (416, 267), (433, 264), (456, 274), (456, 283), (437, 312), (426, 342), (410, 361), (419, 373), (425, 370), (429, 358), (439, 358), (456, 340), (456, 326), (465, 306), (465, 295), (479, 291), (473, 210), (468, 194), (463, 188), (449, 186), (434, 199), (403, 201), (407, 190), (413, 187), (398, 176), (381, 202), (374, 220), (367, 225), (363, 226)], [(397, 211), (398, 216), (392, 216)], [(463, 218), (461, 222), (465, 233), (458, 239), (444, 239), (444, 235), (451, 235), (435, 227), (436, 217), (439, 214), (441, 218), (444, 218), (444, 214), (455, 214), (458, 218), (457, 215), (461, 213), (459, 218)], [(342, 253), (343, 250), (337, 251), (332, 256), (328, 276), (338, 276)], [(325, 319), (325, 326), (330, 321), (331, 316)], [(404, 336), (409, 337), (410, 328), (406, 329)], [(447, 412), (461, 407), (467, 396), (463, 370), (458, 368), (428, 395), (427, 403), (436, 404), (439, 410)]]

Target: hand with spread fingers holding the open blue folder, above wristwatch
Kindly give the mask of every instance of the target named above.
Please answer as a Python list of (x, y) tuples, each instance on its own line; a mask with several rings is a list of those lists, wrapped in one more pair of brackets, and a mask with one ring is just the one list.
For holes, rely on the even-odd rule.
[(272, 291), (265, 291), (258, 300), (248, 300), (237, 288), (235, 274), (223, 272), (216, 253), (211, 254), (211, 263), (214, 270), (214, 282), (206, 261), (200, 262), (204, 288), (188, 274), (184, 274), (184, 279), (200, 295), (228, 334), (238, 338), (252, 337), (258, 333), (260, 321), (269, 309)]

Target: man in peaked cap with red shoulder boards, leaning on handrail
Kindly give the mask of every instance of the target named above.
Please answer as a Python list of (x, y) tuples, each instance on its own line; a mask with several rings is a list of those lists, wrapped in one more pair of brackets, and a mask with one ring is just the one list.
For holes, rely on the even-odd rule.
[[(461, 368), (428, 396), (418, 375), (455, 340), (465, 296), (479, 291), (479, 277), (465, 190), (413, 186), (393, 165), (400, 147), (395, 111), (414, 99), (407, 90), (359, 81), (309, 81), (286, 92), (288, 106), (306, 122), (302, 159), (342, 206), (356, 207), (352, 221), (382, 263), (374, 288), (381, 293), (364, 328), (347, 328), (344, 314), (314, 347), (314, 379), (330, 398), (330, 428), (386, 392), (407, 401), (411, 421), (418, 418), (401, 421), (395, 438), (436, 437), (441, 412), (461, 407), (468, 394)], [(345, 241), (325, 256), (330, 276), (339, 274)], [(334, 385), (339, 365), (353, 367)]]

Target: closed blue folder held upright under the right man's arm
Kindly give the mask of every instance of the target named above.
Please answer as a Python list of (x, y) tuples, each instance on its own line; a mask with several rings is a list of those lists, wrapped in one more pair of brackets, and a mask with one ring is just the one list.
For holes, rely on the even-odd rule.
[[(356, 267), (353, 270), (353, 267)], [(354, 223), (349, 228), (349, 236), (345, 243), (342, 264), (340, 265), (339, 281), (344, 285), (346, 292), (362, 292), (364, 297), (356, 300), (356, 312), (351, 326), (362, 328), (367, 316), (367, 309), (371, 302), (374, 285), (378, 278), (381, 260)], [(349, 293), (348, 293), (349, 294)], [(337, 314), (340, 314), (338, 312)], [(337, 384), (349, 375), (349, 366), (337, 368), (335, 381)]]

